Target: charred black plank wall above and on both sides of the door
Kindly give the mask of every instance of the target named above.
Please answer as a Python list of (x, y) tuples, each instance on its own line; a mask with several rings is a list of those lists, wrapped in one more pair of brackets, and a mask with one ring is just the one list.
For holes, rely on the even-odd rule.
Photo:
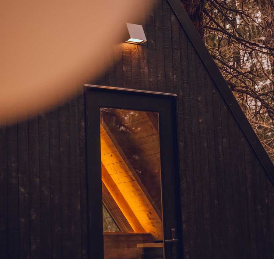
[(146, 7), (129, 21), (146, 43), (106, 50), (77, 98), (0, 129), (1, 258), (87, 258), (84, 83), (178, 95), (184, 258), (274, 258), (272, 183), (167, 1)]

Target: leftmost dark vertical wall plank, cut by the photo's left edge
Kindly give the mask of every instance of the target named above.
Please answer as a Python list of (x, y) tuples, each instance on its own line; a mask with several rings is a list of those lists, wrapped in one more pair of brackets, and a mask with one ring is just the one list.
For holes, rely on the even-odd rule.
[(0, 127), (0, 244), (3, 258), (8, 258), (8, 174), (7, 127)]

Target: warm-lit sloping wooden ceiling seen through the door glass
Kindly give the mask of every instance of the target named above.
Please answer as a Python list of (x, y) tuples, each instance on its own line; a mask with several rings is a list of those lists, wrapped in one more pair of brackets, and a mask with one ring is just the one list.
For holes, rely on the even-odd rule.
[(102, 182), (132, 227), (123, 229), (149, 232), (155, 240), (162, 240), (160, 148), (155, 113), (134, 111), (128, 123), (123, 124), (123, 132), (121, 127), (118, 132), (109, 125), (101, 119)]

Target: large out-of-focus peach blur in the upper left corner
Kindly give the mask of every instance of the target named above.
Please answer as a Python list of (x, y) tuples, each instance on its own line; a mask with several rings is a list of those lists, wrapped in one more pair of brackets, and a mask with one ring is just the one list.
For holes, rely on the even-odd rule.
[[(71, 97), (77, 77), (119, 39), (135, 0), (9, 0), (0, 7), (0, 125)], [(96, 66), (93, 66), (96, 67)], [(97, 71), (98, 72), (98, 71)], [(89, 71), (90, 75), (92, 71)]]

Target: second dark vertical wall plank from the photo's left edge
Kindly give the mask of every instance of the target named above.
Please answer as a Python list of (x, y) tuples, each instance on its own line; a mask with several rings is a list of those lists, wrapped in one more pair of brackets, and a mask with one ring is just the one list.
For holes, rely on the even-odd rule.
[(7, 127), (7, 172), (8, 172), (8, 254), (19, 255), (19, 200), (18, 200), (18, 141), (17, 120)]

